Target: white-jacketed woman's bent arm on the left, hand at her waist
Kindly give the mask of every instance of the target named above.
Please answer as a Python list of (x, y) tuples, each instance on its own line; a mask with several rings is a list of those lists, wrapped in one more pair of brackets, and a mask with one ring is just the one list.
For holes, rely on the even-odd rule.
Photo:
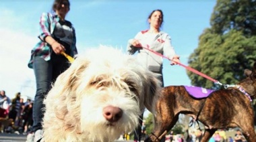
[(135, 36), (135, 38), (132, 38), (130, 40), (128, 40), (128, 44), (127, 44), (127, 52), (129, 54), (135, 54), (135, 52), (137, 52), (137, 50), (139, 50), (139, 47), (141, 47), (139, 40), (141, 37), (141, 32), (137, 33), (137, 35)]

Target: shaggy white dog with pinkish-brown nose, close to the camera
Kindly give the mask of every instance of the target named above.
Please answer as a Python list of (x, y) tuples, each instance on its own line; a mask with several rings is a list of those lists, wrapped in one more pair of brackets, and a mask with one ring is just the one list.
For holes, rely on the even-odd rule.
[(133, 131), (160, 92), (155, 74), (110, 47), (79, 55), (44, 100), (44, 141), (114, 141)]

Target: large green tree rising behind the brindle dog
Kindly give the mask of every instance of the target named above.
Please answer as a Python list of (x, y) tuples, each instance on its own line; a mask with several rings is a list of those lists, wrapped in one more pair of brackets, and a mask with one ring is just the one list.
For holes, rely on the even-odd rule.
[[(256, 61), (256, 1), (218, 0), (211, 27), (199, 36), (199, 46), (189, 56), (189, 66), (220, 81), (235, 84), (245, 68)], [(218, 89), (214, 84), (187, 71), (191, 84)]]

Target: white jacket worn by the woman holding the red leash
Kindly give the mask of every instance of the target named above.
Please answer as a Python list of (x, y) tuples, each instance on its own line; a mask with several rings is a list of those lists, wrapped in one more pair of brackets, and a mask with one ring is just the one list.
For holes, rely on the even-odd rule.
[[(139, 40), (142, 46), (148, 45), (151, 50), (158, 52), (170, 59), (173, 58), (175, 54), (174, 48), (172, 47), (170, 36), (168, 33), (160, 31), (159, 33), (148, 33), (146, 31), (140, 31), (134, 38)], [(159, 72), (162, 74), (162, 62), (161, 56), (158, 56), (149, 50), (143, 48), (137, 48), (131, 45), (133, 39), (130, 39), (127, 44), (127, 51), (129, 54), (135, 54), (138, 51), (138, 60), (141, 60), (152, 72)]]

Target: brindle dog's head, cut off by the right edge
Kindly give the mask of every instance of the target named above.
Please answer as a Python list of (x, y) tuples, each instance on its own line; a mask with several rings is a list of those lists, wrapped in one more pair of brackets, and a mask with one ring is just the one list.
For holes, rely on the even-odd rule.
[(252, 97), (256, 98), (256, 62), (253, 65), (253, 70), (245, 69), (245, 78), (238, 85), (242, 86), (243, 89)]

